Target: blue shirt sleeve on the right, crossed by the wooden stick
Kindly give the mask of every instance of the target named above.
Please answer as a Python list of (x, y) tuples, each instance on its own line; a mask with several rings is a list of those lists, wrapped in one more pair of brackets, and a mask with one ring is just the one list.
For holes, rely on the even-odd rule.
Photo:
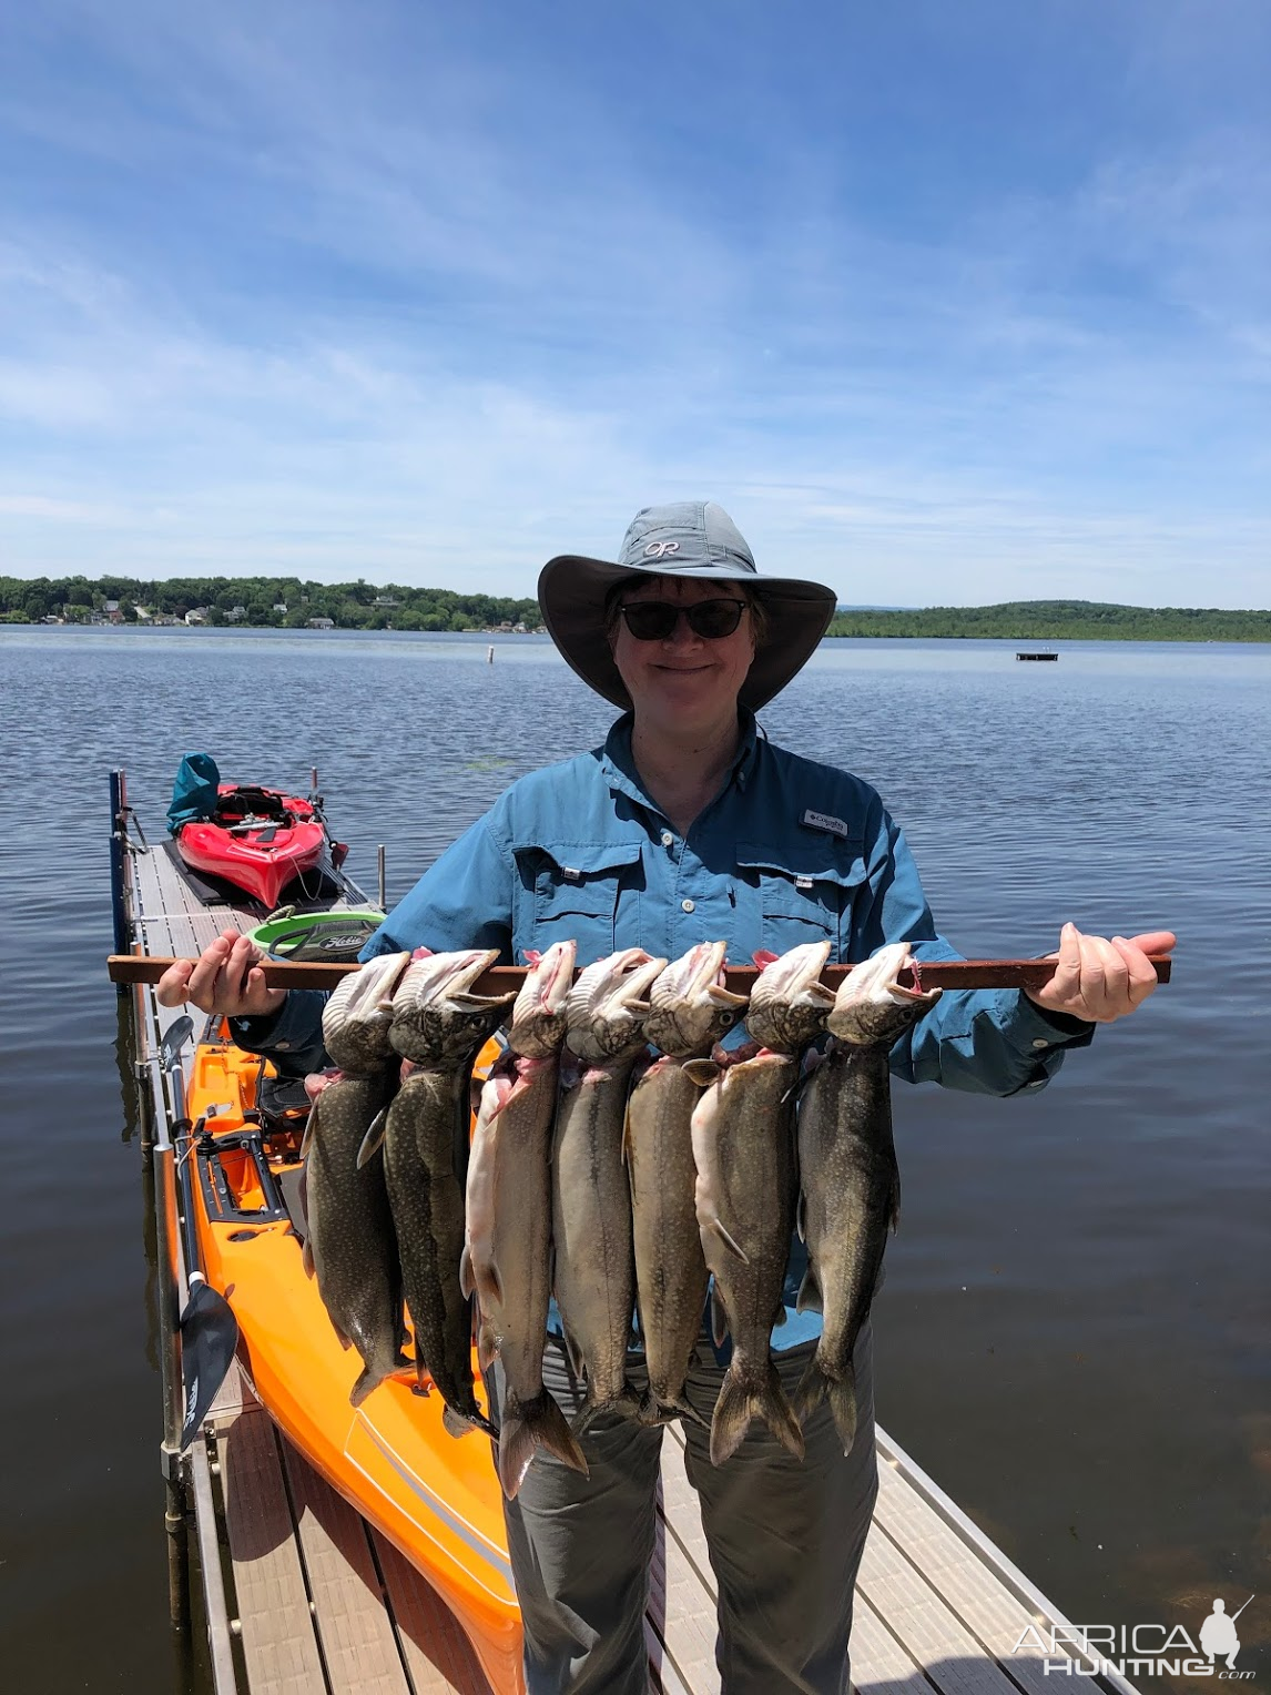
[[(861, 958), (908, 941), (919, 959), (961, 959), (935, 931), (903, 832), (881, 810), (869, 861), (869, 900), (858, 929)], [(980, 1095), (1041, 1090), (1068, 1048), (1086, 1048), (1095, 1025), (1042, 1012), (1017, 988), (946, 990), (891, 1049), (908, 1083), (941, 1083)]]

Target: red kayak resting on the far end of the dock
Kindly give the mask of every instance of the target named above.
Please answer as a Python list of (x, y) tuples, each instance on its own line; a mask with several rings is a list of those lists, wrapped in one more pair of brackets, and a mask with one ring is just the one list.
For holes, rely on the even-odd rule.
[(339, 866), (347, 854), (342, 842), (330, 841), (308, 800), (239, 783), (219, 783), (217, 810), (183, 824), (176, 846), (193, 871), (244, 888), (269, 910), (286, 885), (324, 856)]

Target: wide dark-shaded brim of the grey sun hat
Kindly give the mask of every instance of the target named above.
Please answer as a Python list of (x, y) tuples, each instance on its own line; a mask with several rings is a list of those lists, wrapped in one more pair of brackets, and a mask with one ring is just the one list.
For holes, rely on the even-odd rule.
[(832, 588), (796, 576), (761, 576), (758, 571), (732, 564), (678, 566), (668, 571), (659, 564), (613, 564), (610, 559), (588, 559), (576, 553), (558, 554), (539, 573), (542, 622), (566, 663), (588, 688), (595, 688), (598, 695), (624, 710), (630, 709), (630, 697), (605, 636), (605, 598), (615, 583), (641, 575), (744, 583), (763, 600), (768, 636), (737, 695), (751, 712), (768, 705), (791, 676), (803, 670), (829, 629), (835, 609)]

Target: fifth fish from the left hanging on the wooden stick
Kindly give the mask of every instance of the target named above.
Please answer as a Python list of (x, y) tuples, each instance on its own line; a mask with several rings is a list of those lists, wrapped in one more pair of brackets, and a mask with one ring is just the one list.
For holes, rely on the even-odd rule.
[(698, 942), (652, 985), (644, 1036), (661, 1054), (637, 1061), (627, 1100), (636, 1295), (649, 1370), (646, 1424), (676, 1415), (705, 1422), (685, 1400), (710, 1273), (693, 1205), (691, 1119), (702, 1083), (683, 1063), (707, 1054), (746, 1009), (746, 997), (720, 983), (725, 949), (725, 942)]

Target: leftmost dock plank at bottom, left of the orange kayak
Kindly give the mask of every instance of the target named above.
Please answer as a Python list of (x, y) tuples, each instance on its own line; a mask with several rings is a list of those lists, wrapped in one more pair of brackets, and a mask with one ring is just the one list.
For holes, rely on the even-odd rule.
[(217, 1436), (242, 1654), (253, 1695), (324, 1695), (291, 1509), (271, 1419), (244, 1414)]

